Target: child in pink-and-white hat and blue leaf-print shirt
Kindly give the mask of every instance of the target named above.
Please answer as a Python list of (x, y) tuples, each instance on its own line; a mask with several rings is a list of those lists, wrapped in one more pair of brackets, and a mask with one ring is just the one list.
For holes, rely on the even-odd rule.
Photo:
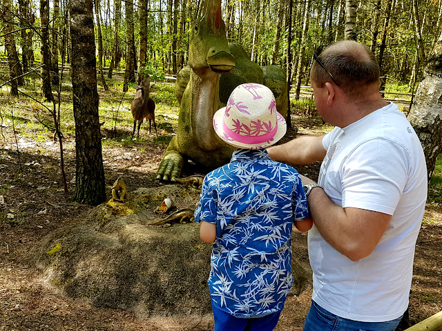
[(291, 288), (291, 231), (307, 231), (307, 199), (298, 172), (265, 148), (287, 126), (266, 86), (246, 83), (213, 117), (218, 136), (238, 148), (204, 178), (195, 221), (213, 243), (209, 290), (215, 331), (273, 330)]

